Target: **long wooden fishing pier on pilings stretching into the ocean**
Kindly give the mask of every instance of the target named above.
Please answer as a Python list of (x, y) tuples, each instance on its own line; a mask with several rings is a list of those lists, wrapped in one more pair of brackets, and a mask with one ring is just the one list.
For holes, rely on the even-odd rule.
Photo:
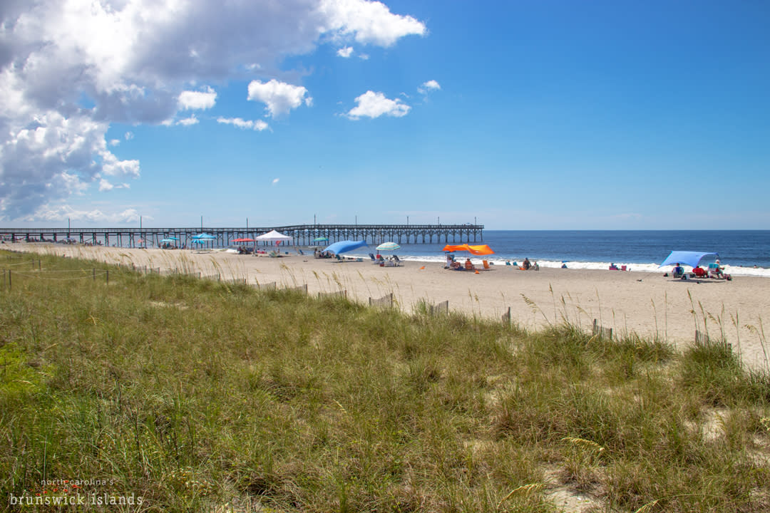
[[(161, 241), (189, 247), (193, 237), (212, 235), (212, 247), (226, 247), (236, 239), (256, 238), (271, 230), (293, 238), (294, 245), (325, 245), (326, 242), (365, 240), (370, 244), (441, 244), (480, 242), (484, 225), (286, 225), (267, 228), (0, 228), (0, 238), (16, 242), (78, 242), (119, 247), (159, 247)], [(323, 239), (326, 240), (323, 240)]]

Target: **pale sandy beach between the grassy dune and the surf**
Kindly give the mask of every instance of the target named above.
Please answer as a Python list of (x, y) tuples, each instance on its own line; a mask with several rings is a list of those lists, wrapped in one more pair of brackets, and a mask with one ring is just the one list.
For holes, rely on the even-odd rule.
[(770, 369), (762, 335), (762, 321), (770, 318), (767, 278), (683, 281), (666, 278), (663, 271), (520, 271), (504, 265), (476, 274), (449, 271), (434, 262), (405, 261), (400, 267), (380, 267), (368, 259), (316, 259), (298, 255), (293, 249), (290, 255), (269, 258), (218, 251), (81, 245), (20, 243), (5, 248), (239, 278), (250, 285), (275, 283), (284, 288), (306, 284), (311, 295), (344, 290), (348, 298), (362, 303), (392, 292), (404, 311), (412, 311), (420, 301), (449, 301), (452, 311), (499, 319), (511, 308), (513, 321), (530, 329), (567, 320), (591, 331), (595, 318), (614, 334), (657, 335), (678, 348), (694, 341), (696, 328), (708, 330), (711, 338), (723, 332), (749, 368)]

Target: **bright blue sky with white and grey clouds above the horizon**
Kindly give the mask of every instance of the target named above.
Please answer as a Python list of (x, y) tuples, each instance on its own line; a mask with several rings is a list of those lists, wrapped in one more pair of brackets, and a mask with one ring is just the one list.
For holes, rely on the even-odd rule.
[(60, 3), (0, 8), (4, 226), (770, 222), (767, 2)]

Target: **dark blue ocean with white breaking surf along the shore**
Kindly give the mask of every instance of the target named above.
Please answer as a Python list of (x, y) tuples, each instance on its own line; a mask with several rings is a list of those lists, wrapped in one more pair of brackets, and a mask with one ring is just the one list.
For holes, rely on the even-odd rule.
[[(463, 241), (465, 242), (465, 241)], [(460, 244), (459, 240), (448, 244)], [(591, 231), (591, 230), (484, 230), (484, 240), (470, 244), (487, 244), (494, 251), (487, 260), (496, 265), (505, 261), (521, 263), (524, 258), (537, 261), (541, 267), (608, 269), (611, 263), (626, 265), (632, 271), (660, 272), (661, 261), (671, 251), (715, 252), (725, 271), (732, 275), (770, 278), (770, 230), (697, 230), (697, 231)], [(348, 253), (368, 256), (377, 245)], [(395, 253), (414, 261), (445, 261), (441, 244), (404, 244)], [(367, 250), (367, 251), (364, 251)], [(383, 252), (388, 255), (389, 252)], [(458, 257), (466, 254), (457, 253)], [(480, 261), (482, 257), (471, 256)], [(708, 265), (717, 257), (706, 256)]]

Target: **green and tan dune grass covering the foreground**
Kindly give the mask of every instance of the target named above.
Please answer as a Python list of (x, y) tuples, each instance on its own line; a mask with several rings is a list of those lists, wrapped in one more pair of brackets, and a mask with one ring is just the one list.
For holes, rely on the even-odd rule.
[(770, 379), (726, 345), (25, 261), (0, 253), (0, 508), (89, 479), (142, 511), (770, 508)]

